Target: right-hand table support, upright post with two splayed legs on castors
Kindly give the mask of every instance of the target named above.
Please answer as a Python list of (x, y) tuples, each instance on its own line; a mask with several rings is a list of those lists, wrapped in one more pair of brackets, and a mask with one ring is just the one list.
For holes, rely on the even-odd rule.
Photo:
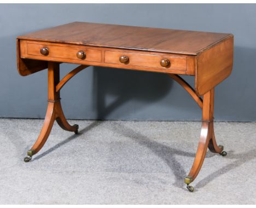
[(214, 153), (222, 154), (223, 146), (217, 145), (217, 142), (214, 136), (213, 104), (214, 104), (214, 89), (211, 89), (205, 95), (203, 95), (202, 129), (201, 129), (199, 145), (196, 151), (196, 156), (195, 156), (193, 166), (188, 176), (184, 179), (184, 182), (187, 183), (187, 188), (190, 192), (193, 192), (194, 188), (193, 186), (189, 186), (189, 183), (194, 181), (196, 176), (199, 174), (203, 161), (205, 160), (207, 148), (209, 148)]

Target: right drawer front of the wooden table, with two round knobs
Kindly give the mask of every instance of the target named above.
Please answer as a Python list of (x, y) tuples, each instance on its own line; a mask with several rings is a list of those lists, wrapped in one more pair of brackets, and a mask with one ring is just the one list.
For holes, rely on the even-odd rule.
[[(127, 62), (121, 63), (120, 57), (127, 57)], [(162, 61), (164, 60), (164, 61)], [(167, 66), (162, 66), (162, 62), (168, 62)], [(121, 51), (105, 51), (105, 63), (121, 64), (130, 66), (143, 66), (148, 68), (156, 68), (160, 70), (177, 70), (181, 72), (187, 71), (186, 56), (164, 56), (158, 54), (145, 54), (136, 52)]]

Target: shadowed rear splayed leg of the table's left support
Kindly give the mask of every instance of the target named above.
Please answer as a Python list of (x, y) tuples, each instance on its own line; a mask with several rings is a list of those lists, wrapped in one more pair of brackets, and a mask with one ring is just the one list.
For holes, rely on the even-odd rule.
[(78, 134), (79, 126), (77, 124), (74, 124), (73, 126), (68, 124), (67, 119), (65, 118), (65, 115), (61, 108), (61, 102), (56, 102), (56, 114), (56, 121), (63, 130), (73, 131), (75, 132), (75, 134)]

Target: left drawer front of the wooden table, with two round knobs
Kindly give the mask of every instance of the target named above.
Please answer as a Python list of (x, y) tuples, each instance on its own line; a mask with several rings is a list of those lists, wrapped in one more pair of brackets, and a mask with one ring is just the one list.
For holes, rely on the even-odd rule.
[[(40, 59), (52, 60), (52, 59), (71, 59), (73, 61), (86, 61), (86, 62), (101, 62), (101, 50), (89, 49), (85, 47), (78, 47), (75, 45), (55, 45), (55, 44), (39, 44), (34, 42), (26, 42), (26, 54), (27, 58), (30, 56), (37, 56)], [(47, 53), (42, 54), (40, 50), (46, 48)], [(78, 57), (78, 52), (83, 52), (85, 57)]]

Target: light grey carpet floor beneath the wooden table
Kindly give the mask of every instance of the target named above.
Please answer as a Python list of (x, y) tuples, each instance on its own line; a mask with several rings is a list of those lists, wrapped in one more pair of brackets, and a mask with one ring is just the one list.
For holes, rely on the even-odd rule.
[(215, 123), (226, 157), (207, 152), (190, 193), (199, 122), (87, 121), (80, 133), (54, 124), (23, 162), (43, 120), (0, 119), (0, 204), (255, 204), (256, 124)]

